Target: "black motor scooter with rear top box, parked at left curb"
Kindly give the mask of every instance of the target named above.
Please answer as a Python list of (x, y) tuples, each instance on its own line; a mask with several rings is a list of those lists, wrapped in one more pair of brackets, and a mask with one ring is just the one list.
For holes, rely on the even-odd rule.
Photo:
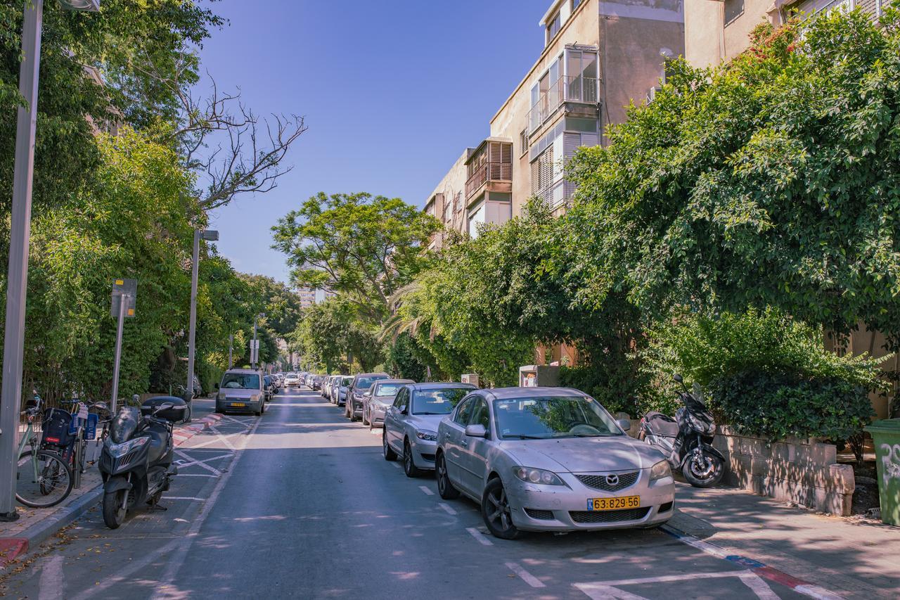
[[(187, 403), (175, 396), (150, 398), (140, 410), (122, 406), (103, 441), (98, 468), (103, 476), (103, 523), (118, 528), (141, 503), (157, 507), (178, 469), (172, 428), (184, 422)], [(163, 509), (165, 510), (165, 509)]]

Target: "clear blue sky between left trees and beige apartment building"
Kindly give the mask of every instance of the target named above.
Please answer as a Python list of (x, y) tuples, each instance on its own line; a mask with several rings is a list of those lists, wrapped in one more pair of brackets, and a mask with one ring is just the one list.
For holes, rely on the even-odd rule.
[[(305, 116), (277, 189), (211, 214), (235, 268), (288, 279), (269, 228), (319, 191), (423, 205), (543, 47), (550, 0), (221, 0), (202, 67), (259, 114)], [(201, 88), (202, 91), (202, 88)]]

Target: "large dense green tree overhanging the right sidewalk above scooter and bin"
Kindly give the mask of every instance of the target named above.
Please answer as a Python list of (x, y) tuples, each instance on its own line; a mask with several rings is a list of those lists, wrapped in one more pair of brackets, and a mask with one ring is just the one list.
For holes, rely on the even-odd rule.
[[(802, 29), (803, 34), (800, 35)], [(833, 11), (714, 69), (673, 65), (652, 104), (572, 162), (579, 300), (778, 306), (900, 341), (900, 17)]]

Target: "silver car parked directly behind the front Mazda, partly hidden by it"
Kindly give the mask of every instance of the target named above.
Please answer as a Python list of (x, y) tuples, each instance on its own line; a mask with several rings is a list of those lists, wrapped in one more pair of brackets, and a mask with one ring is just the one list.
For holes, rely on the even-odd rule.
[(435, 468), (437, 426), (455, 405), (477, 389), (472, 384), (422, 383), (401, 386), (384, 414), (384, 459), (403, 457), (407, 477)]

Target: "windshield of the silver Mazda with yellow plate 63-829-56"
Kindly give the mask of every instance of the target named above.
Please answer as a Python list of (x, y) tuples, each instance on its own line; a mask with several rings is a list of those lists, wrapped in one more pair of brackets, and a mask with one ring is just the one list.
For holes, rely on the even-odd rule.
[(599, 402), (584, 396), (495, 400), (494, 414), (504, 440), (623, 435)]

